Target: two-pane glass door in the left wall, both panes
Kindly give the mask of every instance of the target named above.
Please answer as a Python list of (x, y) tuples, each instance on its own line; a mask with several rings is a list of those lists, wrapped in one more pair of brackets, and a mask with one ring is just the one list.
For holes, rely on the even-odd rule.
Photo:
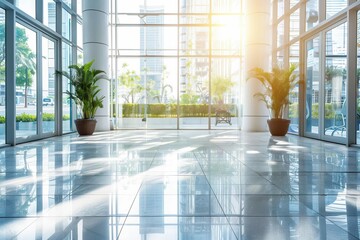
[(16, 138), (55, 135), (56, 41), (16, 23)]

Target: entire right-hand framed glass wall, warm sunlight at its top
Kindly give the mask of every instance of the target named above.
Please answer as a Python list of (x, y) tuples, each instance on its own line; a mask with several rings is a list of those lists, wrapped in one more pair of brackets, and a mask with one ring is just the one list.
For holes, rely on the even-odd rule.
[[(282, 62), (285, 66), (299, 63), (304, 83), (290, 96), (290, 131), (332, 142), (357, 143), (359, 111), (352, 110), (356, 116), (349, 119), (353, 115), (348, 114), (348, 103), (358, 101), (348, 89), (359, 83), (357, 77), (349, 78), (348, 69), (358, 66), (349, 62), (348, 52), (358, 52), (359, 34), (355, 44), (354, 35), (348, 30), (355, 22), (349, 25), (347, 19), (354, 16), (352, 10), (359, 6), (346, 0), (299, 2), (287, 4), (278, 0), (273, 5), (277, 9), (277, 17), (273, 19), (273, 39), (276, 39), (273, 62)], [(349, 42), (352, 44), (348, 45)], [(305, 94), (300, 99), (302, 91)], [(352, 124), (348, 125), (349, 121)]]

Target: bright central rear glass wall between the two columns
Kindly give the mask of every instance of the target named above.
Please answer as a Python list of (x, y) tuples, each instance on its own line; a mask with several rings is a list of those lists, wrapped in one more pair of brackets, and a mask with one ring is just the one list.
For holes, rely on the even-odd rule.
[(240, 127), (241, 1), (110, 5), (115, 127)]

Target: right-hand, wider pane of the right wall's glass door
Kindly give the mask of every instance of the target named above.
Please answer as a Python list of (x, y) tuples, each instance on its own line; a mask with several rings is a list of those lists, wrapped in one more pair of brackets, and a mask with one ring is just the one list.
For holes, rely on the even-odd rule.
[(325, 135), (346, 137), (347, 24), (326, 33)]

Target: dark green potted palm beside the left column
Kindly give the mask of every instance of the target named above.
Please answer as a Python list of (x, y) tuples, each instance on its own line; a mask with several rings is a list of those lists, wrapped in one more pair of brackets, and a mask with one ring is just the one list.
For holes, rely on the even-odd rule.
[(103, 107), (104, 96), (98, 96), (100, 88), (97, 82), (105, 79), (105, 71), (92, 69), (94, 60), (84, 65), (70, 65), (69, 72), (56, 71), (57, 74), (69, 79), (74, 91), (66, 91), (80, 109), (81, 118), (75, 120), (79, 135), (92, 135), (95, 130), (96, 110)]

